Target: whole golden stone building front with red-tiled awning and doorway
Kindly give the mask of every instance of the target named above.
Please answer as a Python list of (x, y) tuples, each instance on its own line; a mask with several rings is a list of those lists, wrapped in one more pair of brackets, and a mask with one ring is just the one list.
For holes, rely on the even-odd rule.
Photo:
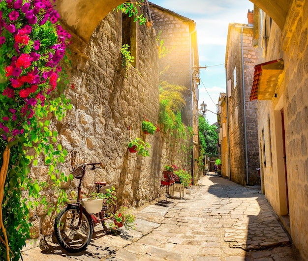
[(283, 27), (256, 10), (260, 63), (250, 99), (257, 100), (262, 191), (308, 260), (308, 1), (291, 1)]

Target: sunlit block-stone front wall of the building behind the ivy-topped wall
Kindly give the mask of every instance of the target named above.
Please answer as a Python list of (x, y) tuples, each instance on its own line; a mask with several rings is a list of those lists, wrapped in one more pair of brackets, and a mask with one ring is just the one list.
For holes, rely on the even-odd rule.
[(165, 57), (159, 59), (159, 79), (170, 84), (185, 86), (186, 108), (182, 120), (190, 125), (191, 104), (191, 63), (190, 63), (190, 29), (192, 20), (180, 18), (181, 16), (156, 5), (150, 5), (151, 17), (156, 34), (160, 35), (158, 42), (164, 40), (163, 46), (168, 49)]

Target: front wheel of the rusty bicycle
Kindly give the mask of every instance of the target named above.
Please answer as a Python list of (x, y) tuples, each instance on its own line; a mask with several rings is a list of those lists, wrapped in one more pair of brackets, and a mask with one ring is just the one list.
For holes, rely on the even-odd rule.
[(80, 215), (78, 205), (69, 205), (56, 217), (55, 234), (65, 250), (70, 253), (81, 252), (87, 248), (92, 238), (91, 216), (87, 212)]

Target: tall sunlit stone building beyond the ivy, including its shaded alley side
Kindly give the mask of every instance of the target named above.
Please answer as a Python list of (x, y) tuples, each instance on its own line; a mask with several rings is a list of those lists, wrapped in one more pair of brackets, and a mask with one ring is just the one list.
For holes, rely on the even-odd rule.
[(195, 180), (198, 180), (202, 169), (195, 161), (199, 157), (197, 85), (199, 57), (196, 24), (193, 20), (154, 3), (150, 3), (150, 10), (156, 34), (159, 35), (158, 41), (163, 40), (163, 47), (168, 50), (158, 62), (159, 79), (170, 84), (185, 86), (187, 89), (182, 120), (193, 128), (191, 165), (192, 175)]

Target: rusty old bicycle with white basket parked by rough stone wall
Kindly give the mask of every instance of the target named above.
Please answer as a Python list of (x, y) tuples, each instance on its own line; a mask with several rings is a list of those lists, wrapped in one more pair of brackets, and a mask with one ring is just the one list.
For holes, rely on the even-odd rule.
[[(101, 163), (85, 163), (71, 172), (74, 178), (79, 179), (77, 201), (68, 203), (57, 215), (54, 224), (59, 244), (70, 253), (81, 252), (87, 248), (93, 235), (93, 227), (99, 223), (102, 224), (105, 232), (110, 232), (111, 226), (109, 226), (109, 223), (113, 223), (111, 214), (113, 209), (109, 209), (108, 204), (106, 204), (108, 199), (102, 199), (102, 207), (100, 210), (96, 210), (97, 213), (89, 213), (81, 203), (82, 181), (87, 170), (95, 170), (101, 167)], [(96, 193), (100, 193), (106, 184), (104, 181), (95, 181)]]

